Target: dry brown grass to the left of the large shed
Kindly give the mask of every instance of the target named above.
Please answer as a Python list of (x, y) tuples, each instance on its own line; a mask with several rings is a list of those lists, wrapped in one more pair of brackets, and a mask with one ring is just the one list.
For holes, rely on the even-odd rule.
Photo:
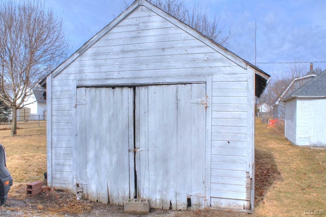
[(6, 148), (7, 168), (15, 184), (43, 180), (46, 171), (45, 121), (18, 122), (17, 137), (10, 137), (8, 125), (0, 125), (0, 143)]

